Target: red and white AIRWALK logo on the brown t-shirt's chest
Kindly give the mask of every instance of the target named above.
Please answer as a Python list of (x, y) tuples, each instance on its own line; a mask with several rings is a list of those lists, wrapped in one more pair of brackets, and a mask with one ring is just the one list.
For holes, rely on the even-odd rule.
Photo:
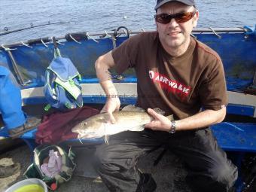
[(168, 93), (172, 92), (177, 94), (181, 99), (185, 99), (190, 93), (190, 87), (169, 79), (160, 73), (149, 71), (149, 77), (153, 82), (158, 82), (162, 89), (167, 90)]

